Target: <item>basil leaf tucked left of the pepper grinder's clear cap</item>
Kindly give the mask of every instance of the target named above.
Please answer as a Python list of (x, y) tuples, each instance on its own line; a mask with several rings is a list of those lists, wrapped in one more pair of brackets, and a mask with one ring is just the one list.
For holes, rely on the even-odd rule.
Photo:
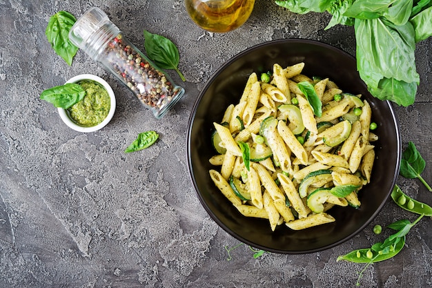
[(59, 11), (50, 17), (45, 35), (57, 55), (70, 66), (77, 53), (78, 47), (69, 41), (69, 31), (77, 21), (75, 17), (66, 11)]

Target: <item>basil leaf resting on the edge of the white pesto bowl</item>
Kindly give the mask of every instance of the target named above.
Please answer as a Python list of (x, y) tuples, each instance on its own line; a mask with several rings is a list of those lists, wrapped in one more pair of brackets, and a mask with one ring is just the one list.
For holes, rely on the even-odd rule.
[(85, 95), (86, 91), (79, 84), (68, 83), (44, 90), (41, 93), (41, 99), (50, 102), (57, 108), (67, 109), (80, 102)]

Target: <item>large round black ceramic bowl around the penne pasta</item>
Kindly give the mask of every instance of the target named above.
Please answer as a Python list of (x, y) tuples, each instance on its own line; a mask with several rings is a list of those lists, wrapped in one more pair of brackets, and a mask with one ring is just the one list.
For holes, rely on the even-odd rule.
[[(301, 231), (280, 225), (271, 231), (268, 220), (246, 218), (233, 207), (210, 179), (208, 171), (217, 169), (208, 160), (215, 155), (211, 144), (213, 122), (220, 122), (229, 104), (238, 104), (248, 76), (282, 67), (305, 63), (304, 74), (329, 77), (344, 92), (359, 94), (371, 104), (375, 133), (375, 164), (371, 183), (359, 193), (360, 209), (334, 207), (328, 213), (335, 222)], [(311, 253), (334, 247), (366, 227), (389, 198), (401, 157), (400, 133), (390, 102), (372, 97), (360, 79), (355, 58), (346, 52), (317, 41), (284, 39), (249, 48), (226, 62), (200, 93), (188, 128), (188, 166), (199, 200), (222, 229), (253, 247), (275, 253)]]

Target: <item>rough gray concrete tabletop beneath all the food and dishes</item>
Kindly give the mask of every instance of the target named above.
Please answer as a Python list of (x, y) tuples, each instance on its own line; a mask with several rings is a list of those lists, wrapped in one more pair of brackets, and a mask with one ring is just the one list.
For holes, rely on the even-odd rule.
[[(98, 6), (139, 48), (143, 29), (179, 47), (187, 93), (162, 120), (79, 51), (68, 66), (44, 34), (50, 15), (79, 17)], [(307, 38), (355, 55), (353, 29), (324, 31), (325, 14), (293, 15), (271, 0), (256, 0), (244, 26), (224, 35), (204, 32), (179, 0), (0, 1), (0, 287), (355, 287), (363, 265), (337, 256), (377, 240), (375, 224), (415, 215), (390, 200), (360, 234), (344, 244), (307, 255), (265, 253), (253, 258), (202, 208), (188, 177), (186, 129), (200, 88), (238, 52), (264, 41)], [(432, 39), (416, 50), (421, 84), (415, 104), (397, 107), (402, 142), (416, 146), (432, 181)], [(81, 73), (106, 79), (117, 112), (101, 131), (77, 133), (42, 90)], [(173, 72), (170, 75), (181, 83)], [(159, 142), (141, 153), (123, 151), (137, 133), (156, 130)], [(398, 179), (411, 196), (432, 204), (416, 180)], [(431, 287), (431, 219), (407, 237), (407, 247), (371, 265), (362, 287)]]

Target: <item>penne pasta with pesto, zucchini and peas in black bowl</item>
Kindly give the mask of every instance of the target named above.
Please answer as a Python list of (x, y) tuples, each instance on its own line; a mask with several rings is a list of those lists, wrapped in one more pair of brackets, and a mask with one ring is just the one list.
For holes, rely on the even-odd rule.
[(274, 64), (268, 82), (252, 73), (239, 102), (213, 123), (210, 178), (241, 215), (272, 231), (335, 222), (332, 207), (360, 207), (373, 178), (371, 106), (331, 79), (304, 75), (304, 66)]

